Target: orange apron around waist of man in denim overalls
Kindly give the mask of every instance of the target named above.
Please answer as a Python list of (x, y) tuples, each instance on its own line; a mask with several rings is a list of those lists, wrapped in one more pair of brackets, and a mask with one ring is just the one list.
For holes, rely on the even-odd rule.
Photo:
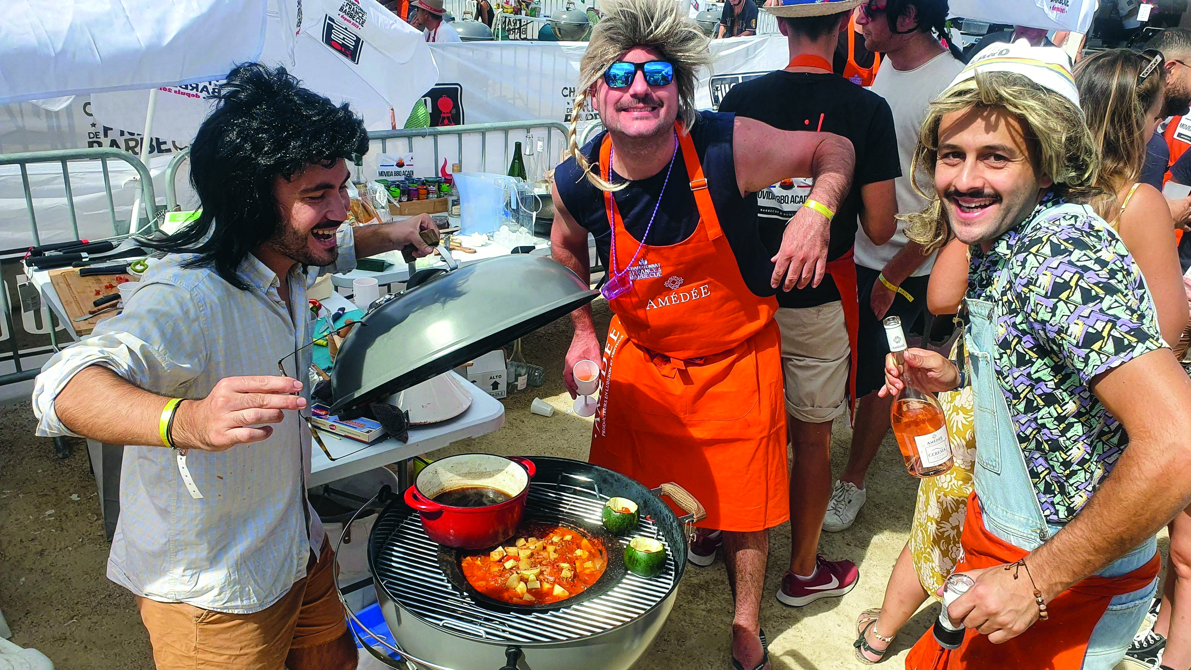
[[(955, 566), (956, 572), (1004, 565), (1025, 557), (1025, 551), (985, 529), (984, 515), (974, 492), (968, 496), (961, 544), (964, 560)], [(960, 649), (950, 652), (942, 664), (935, 660), (940, 658), (941, 647), (928, 629), (906, 656), (906, 670), (1079, 670), (1084, 665), (1087, 640), (1091, 639), (1096, 624), (1104, 616), (1109, 601), (1114, 596), (1149, 585), (1160, 566), (1161, 560), (1155, 552), (1149, 563), (1127, 575), (1114, 578), (1087, 577), (1047, 603), (1049, 619), (1036, 621), (1021, 635), (999, 645), (990, 643), (989, 635), (968, 629)]]

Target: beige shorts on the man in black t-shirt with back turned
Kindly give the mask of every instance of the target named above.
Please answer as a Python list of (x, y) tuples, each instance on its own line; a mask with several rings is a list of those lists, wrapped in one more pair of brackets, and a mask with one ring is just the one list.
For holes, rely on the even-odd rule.
[(848, 328), (838, 300), (816, 308), (779, 308), (786, 412), (806, 423), (834, 421), (847, 409)]

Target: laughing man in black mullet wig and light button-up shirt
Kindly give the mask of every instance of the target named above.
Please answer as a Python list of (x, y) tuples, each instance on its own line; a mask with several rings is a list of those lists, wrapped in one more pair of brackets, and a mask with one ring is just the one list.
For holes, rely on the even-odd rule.
[(429, 254), (434, 223), (344, 224), (347, 160), (368, 150), (348, 105), (256, 63), (218, 98), (191, 149), (201, 216), (152, 243), (168, 253), (121, 314), (46, 364), (38, 433), (130, 445), (107, 575), (158, 669), (354, 669), (305, 495), (306, 290), (357, 255)]

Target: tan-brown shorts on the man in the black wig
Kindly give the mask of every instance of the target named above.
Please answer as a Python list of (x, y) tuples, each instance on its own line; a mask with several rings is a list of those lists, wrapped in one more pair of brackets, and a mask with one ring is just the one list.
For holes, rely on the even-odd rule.
[(137, 597), (158, 670), (283, 670), (291, 649), (322, 646), (347, 629), (324, 540), (318, 563), (261, 612), (227, 614)]

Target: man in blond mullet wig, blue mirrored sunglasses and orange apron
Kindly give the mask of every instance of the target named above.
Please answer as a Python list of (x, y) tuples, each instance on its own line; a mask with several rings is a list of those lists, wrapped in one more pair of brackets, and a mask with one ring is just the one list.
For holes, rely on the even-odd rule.
[[(779, 286), (818, 284), (852, 143), (694, 110), (707, 39), (676, 2), (605, 6), (580, 63), (574, 118), (605, 132), (555, 172), (554, 258), (588, 277), (587, 234), (615, 314), (591, 461), (647, 486), (675, 482), (722, 532), (735, 597), (734, 668), (768, 666), (760, 600), (768, 529), (788, 517)], [(757, 232), (756, 192), (813, 176), (777, 255)], [(573, 366), (600, 360), (590, 309), (573, 317)], [(682, 557), (675, 557), (681, 560)]]

